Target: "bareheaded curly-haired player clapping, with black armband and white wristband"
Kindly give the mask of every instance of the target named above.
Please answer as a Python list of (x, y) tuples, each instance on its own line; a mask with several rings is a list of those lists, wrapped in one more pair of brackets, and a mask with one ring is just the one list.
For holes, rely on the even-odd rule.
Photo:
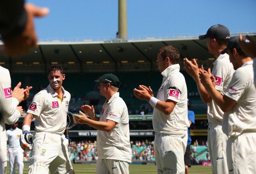
[(187, 85), (179, 72), (180, 54), (173, 46), (159, 50), (157, 66), (163, 76), (156, 98), (150, 87), (139, 85), (134, 96), (150, 103), (153, 110), (157, 174), (185, 174), (187, 147)]

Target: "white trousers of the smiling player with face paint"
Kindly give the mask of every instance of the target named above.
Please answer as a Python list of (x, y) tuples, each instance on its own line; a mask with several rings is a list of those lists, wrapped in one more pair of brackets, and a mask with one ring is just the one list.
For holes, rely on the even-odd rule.
[(51, 174), (73, 173), (68, 145), (69, 140), (64, 134), (36, 132), (28, 174), (49, 174), (49, 171)]

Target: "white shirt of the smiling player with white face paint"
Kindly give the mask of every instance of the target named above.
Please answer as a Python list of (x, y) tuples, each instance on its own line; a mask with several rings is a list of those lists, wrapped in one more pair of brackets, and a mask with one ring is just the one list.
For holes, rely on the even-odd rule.
[(67, 124), (67, 111), (69, 109), (70, 94), (63, 87), (63, 99), (48, 85), (38, 92), (27, 113), (35, 115), (35, 131), (63, 134)]

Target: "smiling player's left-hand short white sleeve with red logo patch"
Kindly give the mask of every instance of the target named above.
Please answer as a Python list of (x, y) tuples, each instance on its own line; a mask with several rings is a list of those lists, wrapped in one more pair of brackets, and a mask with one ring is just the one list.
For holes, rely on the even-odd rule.
[(44, 102), (44, 95), (41, 93), (37, 93), (34, 96), (32, 103), (29, 105), (27, 113), (39, 116), (44, 108)]

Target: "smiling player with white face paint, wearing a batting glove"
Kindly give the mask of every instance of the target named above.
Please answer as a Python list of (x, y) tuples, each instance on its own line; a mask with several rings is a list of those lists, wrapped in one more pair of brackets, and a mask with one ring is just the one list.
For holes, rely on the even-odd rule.
[[(62, 67), (52, 65), (48, 70), (50, 84), (34, 96), (23, 121), (20, 145), (26, 151), (33, 150), (28, 174), (74, 173), (68, 153), (69, 140), (63, 134), (70, 100), (69, 92), (62, 87), (64, 79)], [(29, 131), (34, 118), (32, 135)]]

